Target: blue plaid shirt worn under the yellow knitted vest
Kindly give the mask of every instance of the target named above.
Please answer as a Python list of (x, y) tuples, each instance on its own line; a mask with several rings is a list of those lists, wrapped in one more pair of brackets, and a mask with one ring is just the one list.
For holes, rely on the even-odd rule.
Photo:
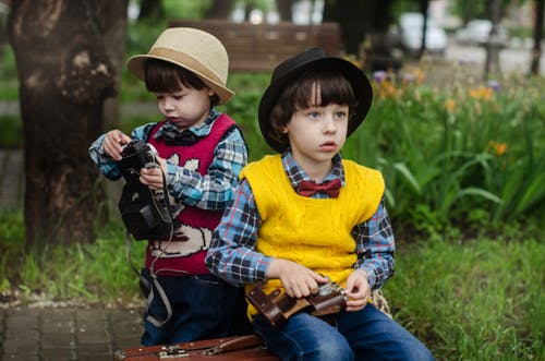
[[(310, 177), (299, 167), (291, 152), (282, 155), (282, 165), (291, 185)], [(344, 185), (344, 169), (341, 156), (334, 158), (334, 168), (324, 181), (340, 179)], [(312, 197), (327, 198), (326, 193), (315, 193)], [(223, 213), (206, 258), (210, 270), (233, 285), (253, 284), (266, 278), (271, 257), (256, 252), (255, 244), (262, 219), (255, 198), (246, 180), (243, 180), (234, 194), (232, 204)], [(370, 286), (382, 287), (393, 275), (395, 241), (384, 198), (375, 214), (365, 222), (352, 229), (356, 242), (358, 261), (355, 269), (364, 269)]]

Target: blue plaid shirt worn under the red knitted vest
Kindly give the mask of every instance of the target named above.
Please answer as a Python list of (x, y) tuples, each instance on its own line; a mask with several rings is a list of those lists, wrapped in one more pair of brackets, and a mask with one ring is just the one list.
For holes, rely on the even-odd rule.
[[(197, 136), (209, 134), (214, 121), (220, 116), (216, 110), (197, 127), (190, 131)], [(149, 132), (157, 123), (148, 123), (136, 128), (131, 137), (147, 140)], [(158, 139), (166, 131), (175, 131), (178, 128), (167, 121), (154, 135)], [(89, 147), (89, 156), (98, 166), (99, 171), (108, 179), (118, 180), (121, 177), (117, 163), (104, 153), (102, 143), (106, 134), (97, 139)], [(169, 193), (178, 201), (190, 206), (203, 209), (225, 209), (233, 196), (239, 183), (238, 177), (247, 163), (246, 144), (239, 129), (233, 129), (218, 143), (214, 149), (214, 160), (208, 168), (208, 175), (202, 176), (198, 171), (179, 167), (167, 163), (167, 186)]]

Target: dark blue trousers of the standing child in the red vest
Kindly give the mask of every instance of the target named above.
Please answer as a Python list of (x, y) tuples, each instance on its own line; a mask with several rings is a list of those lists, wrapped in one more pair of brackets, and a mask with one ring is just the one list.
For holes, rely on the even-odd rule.
[[(152, 282), (149, 270), (142, 275)], [(172, 317), (161, 327), (147, 321), (144, 313), (143, 346), (168, 345), (197, 339), (225, 337), (231, 326), (237, 287), (214, 275), (157, 277), (168, 296)], [(157, 320), (167, 317), (167, 310), (157, 290), (148, 311)], [(145, 294), (147, 297), (147, 294)]]

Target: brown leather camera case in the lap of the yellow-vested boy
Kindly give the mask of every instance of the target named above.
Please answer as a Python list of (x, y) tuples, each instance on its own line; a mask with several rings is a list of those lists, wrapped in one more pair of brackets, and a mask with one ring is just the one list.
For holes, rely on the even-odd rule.
[(298, 312), (307, 311), (315, 316), (324, 316), (340, 312), (347, 304), (344, 290), (331, 281), (320, 285), (317, 293), (300, 299), (289, 297), (278, 288), (266, 294), (264, 285), (258, 282), (246, 293), (246, 299), (272, 327), (281, 326)]

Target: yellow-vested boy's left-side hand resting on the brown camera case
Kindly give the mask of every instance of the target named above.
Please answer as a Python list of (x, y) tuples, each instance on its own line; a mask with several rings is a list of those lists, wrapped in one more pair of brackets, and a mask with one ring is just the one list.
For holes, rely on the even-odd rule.
[(318, 285), (327, 278), (288, 260), (274, 260), (267, 270), (268, 278), (279, 278), (289, 297), (302, 298), (316, 293)]

